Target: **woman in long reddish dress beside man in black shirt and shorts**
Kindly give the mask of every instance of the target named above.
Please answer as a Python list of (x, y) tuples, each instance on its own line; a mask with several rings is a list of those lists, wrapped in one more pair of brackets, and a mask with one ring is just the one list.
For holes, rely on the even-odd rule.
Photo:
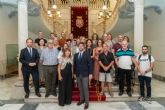
[(97, 42), (97, 47), (93, 49), (93, 59), (94, 59), (94, 66), (93, 66), (93, 78), (96, 82), (96, 85), (99, 82), (99, 55), (103, 52), (103, 40), (99, 39)]

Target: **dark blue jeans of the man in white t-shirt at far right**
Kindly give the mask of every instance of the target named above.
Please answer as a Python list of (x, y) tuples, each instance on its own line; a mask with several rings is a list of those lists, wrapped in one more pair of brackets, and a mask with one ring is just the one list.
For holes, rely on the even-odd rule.
[(138, 76), (138, 78), (139, 78), (139, 83), (140, 83), (140, 95), (143, 97), (145, 96), (144, 85), (146, 84), (147, 97), (151, 97), (151, 77)]

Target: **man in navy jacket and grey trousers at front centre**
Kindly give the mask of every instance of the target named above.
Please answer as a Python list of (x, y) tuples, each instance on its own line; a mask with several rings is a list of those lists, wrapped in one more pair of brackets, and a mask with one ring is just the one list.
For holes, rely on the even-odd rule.
[(88, 82), (92, 78), (92, 60), (90, 55), (85, 51), (85, 46), (82, 42), (79, 44), (79, 52), (74, 55), (74, 74), (76, 74), (80, 91), (80, 101), (77, 105), (85, 102), (84, 109), (88, 109)]

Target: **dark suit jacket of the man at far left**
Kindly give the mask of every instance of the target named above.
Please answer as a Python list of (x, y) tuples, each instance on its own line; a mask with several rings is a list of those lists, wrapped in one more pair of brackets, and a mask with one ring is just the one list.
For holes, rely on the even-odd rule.
[[(21, 50), (19, 61), (22, 63), (22, 72), (28, 73), (31, 70), (38, 71), (39, 53), (37, 49), (32, 48), (32, 56), (27, 48)], [(30, 67), (29, 63), (36, 63), (34, 67)]]

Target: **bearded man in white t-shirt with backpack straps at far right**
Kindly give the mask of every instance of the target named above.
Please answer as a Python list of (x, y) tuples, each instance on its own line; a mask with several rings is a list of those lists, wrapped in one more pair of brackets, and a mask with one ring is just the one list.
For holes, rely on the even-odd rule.
[[(138, 79), (140, 83), (140, 97), (139, 101), (151, 99), (151, 79), (152, 79), (152, 70), (154, 67), (154, 58), (148, 54), (148, 46), (142, 46), (142, 54), (136, 58), (138, 62)], [(144, 84), (146, 83), (147, 95), (145, 97)]]

